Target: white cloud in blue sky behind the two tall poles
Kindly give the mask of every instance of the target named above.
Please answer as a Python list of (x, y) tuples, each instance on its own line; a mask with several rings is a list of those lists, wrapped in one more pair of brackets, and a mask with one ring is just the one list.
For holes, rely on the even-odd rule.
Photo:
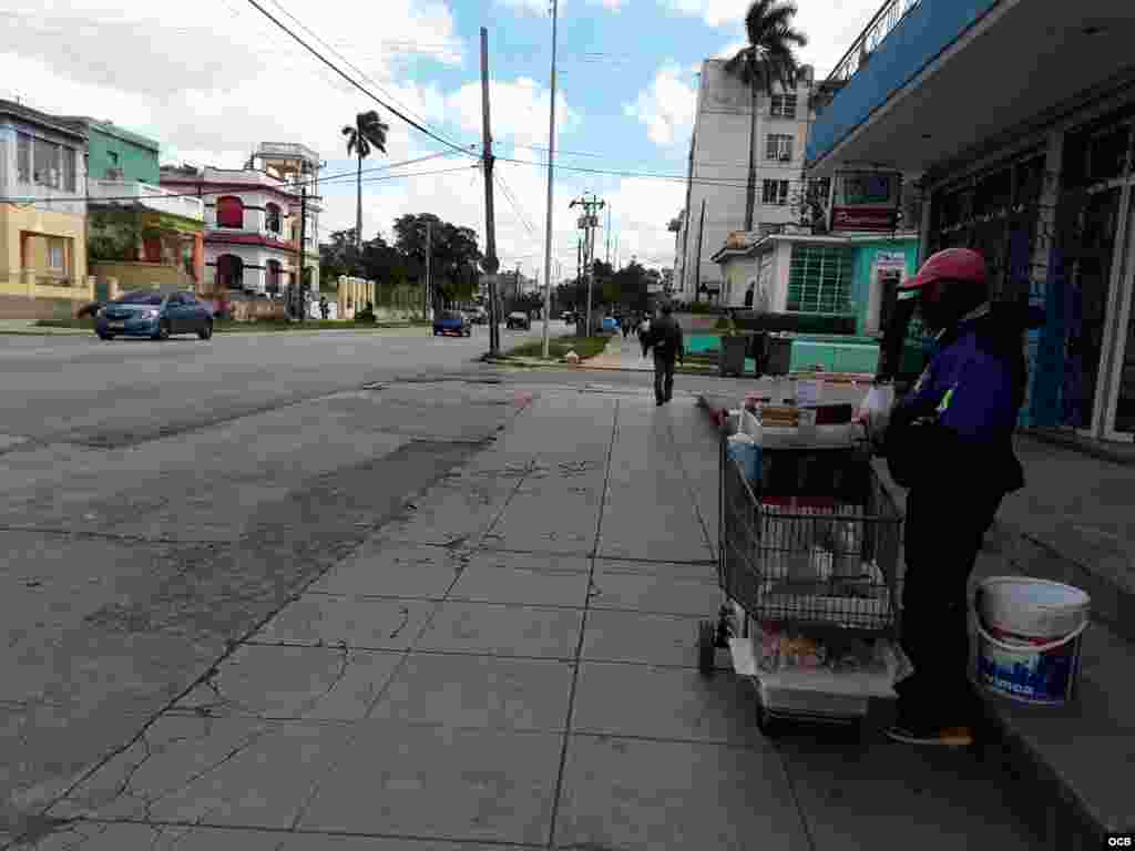
[[(512, 141), (524, 145), (548, 143), (548, 90), (529, 77), (489, 83), (489, 113), (494, 142)], [(466, 83), (446, 99), (452, 120), (469, 133), (481, 135), (481, 85)], [(568, 106), (563, 90), (556, 92), (556, 132), (579, 124), (579, 116)]]

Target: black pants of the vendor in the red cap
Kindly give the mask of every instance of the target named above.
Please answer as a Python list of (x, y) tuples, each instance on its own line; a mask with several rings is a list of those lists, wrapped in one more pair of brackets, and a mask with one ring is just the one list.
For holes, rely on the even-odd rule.
[(967, 676), (967, 582), (1001, 499), (925, 488), (907, 495), (901, 642), (915, 673), (896, 686), (903, 725), (934, 728), (977, 721)]

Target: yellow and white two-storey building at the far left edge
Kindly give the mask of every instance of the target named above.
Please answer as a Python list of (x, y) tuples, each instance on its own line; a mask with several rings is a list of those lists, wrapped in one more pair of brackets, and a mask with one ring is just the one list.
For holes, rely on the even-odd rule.
[(0, 318), (74, 315), (86, 268), (86, 136), (0, 100)]

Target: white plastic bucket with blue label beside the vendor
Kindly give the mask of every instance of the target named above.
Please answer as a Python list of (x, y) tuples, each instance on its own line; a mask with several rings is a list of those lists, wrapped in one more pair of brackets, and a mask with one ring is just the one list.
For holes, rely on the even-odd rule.
[(1067, 703), (1079, 674), (1091, 598), (1059, 582), (995, 576), (978, 587), (975, 604), (977, 682), (1022, 703)]

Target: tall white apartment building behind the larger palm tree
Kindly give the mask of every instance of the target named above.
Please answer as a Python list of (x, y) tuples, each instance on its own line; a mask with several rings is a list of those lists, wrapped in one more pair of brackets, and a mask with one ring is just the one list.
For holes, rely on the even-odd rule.
[[(756, 197), (753, 228), (767, 233), (801, 219), (805, 148), (815, 118), (813, 94), (818, 87), (812, 66), (802, 66), (794, 91), (759, 91), (757, 120), (753, 93), (725, 71), (724, 59), (701, 64), (697, 117), (687, 171), (686, 209), (676, 239), (674, 296), (740, 305), (743, 293), (729, 293), (721, 267), (711, 258), (731, 231), (745, 230), (749, 137), (756, 132)], [(703, 204), (705, 217), (703, 224)], [(698, 263), (700, 245), (700, 269)]]

